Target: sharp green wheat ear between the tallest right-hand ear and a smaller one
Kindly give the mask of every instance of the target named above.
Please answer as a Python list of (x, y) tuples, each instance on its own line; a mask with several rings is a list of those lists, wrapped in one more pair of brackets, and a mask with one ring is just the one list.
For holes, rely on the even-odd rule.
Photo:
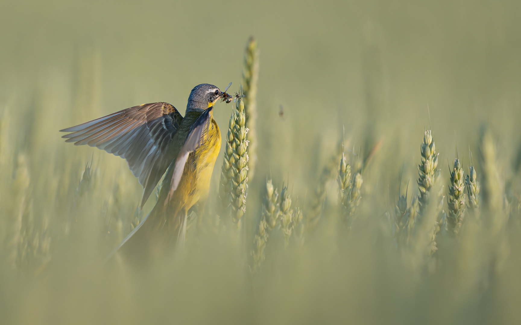
[(453, 235), (457, 235), (461, 230), (463, 217), (465, 215), (465, 193), (464, 193), (463, 168), (460, 160), (454, 160), (454, 168), (451, 172), (451, 186), (447, 203), (449, 213), (447, 215), (448, 230)]

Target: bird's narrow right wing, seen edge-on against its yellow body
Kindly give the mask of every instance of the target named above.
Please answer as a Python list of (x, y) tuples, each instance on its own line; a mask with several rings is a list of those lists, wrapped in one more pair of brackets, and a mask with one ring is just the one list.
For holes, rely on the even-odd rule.
[[(204, 131), (208, 129), (208, 123), (210, 122), (210, 113), (214, 108), (210, 107), (199, 115), (195, 120), (194, 124), (190, 127), (187, 139), (184, 141), (179, 154), (177, 155), (176, 164), (173, 168), (172, 181), (170, 182), (170, 190), (168, 192), (168, 198), (170, 198), (179, 185), (181, 176), (184, 171), (184, 164), (188, 160), (190, 152), (195, 151), (203, 143)], [(168, 202), (169, 199), (165, 201)]]

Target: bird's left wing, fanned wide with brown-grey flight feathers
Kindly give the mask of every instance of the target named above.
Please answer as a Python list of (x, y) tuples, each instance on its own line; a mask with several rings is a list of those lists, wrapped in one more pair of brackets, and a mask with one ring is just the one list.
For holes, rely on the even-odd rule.
[(125, 158), (143, 186), (141, 207), (175, 158), (167, 150), (183, 117), (166, 102), (134, 106), (60, 130), (66, 142), (97, 147)]

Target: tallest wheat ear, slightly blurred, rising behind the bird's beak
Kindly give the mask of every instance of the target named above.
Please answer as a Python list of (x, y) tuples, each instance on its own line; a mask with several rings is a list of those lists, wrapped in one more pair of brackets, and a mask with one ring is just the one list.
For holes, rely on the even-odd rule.
[(255, 164), (257, 162), (257, 138), (255, 121), (257, 119), (257, 80), (259, 71), (257, 41), (253, 36), (248, 40), (244, 51), (244, 69), (242, 71), (242, 85), (244, 92), (244, 111), (246, 113), (246, 126), (248, 132), (248, 154), (250, 155), (249, 174), (253, 177)]

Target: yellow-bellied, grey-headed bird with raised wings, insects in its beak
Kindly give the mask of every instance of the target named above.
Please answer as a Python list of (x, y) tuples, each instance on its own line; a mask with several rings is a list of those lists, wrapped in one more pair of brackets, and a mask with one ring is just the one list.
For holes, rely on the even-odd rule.
[(231, 98), (230, 85), (224, 92), (210, 84), (195, 86), (184, 118), (169, 103), (155, 102), (60, 130), (72, 132), (63, 136), (66, 142), (125, 158), (144, 188), (141, 208), (166, 172), (156, 205), (113, 253), (123, 246), (127, 255), (150, 257), (184, 243), (188, 210), (208, 196), (221, 147), (213, 106)]

